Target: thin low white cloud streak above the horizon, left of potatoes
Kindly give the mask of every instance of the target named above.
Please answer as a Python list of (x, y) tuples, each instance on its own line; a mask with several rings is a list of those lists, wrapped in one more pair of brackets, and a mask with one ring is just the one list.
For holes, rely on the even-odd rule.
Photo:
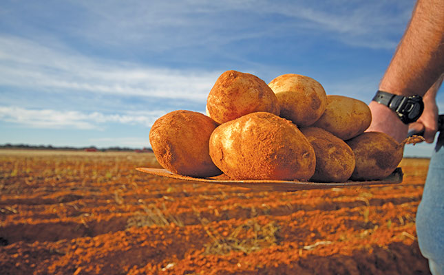
[(0, 120), (39, 129), (103, 129), (107, 123), (151, 126), (167, 111), (130, 111), (124, 114), (81, 113), (53, 109), (0, 107)]

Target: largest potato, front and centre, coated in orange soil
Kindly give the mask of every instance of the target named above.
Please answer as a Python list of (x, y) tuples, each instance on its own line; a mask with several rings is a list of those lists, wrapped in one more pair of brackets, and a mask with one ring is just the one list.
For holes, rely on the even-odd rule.
[(315, 151), (297, 126), (266, 112), (221, 124), (210, 137), (211, 159), (231, 179), (310, 179)]

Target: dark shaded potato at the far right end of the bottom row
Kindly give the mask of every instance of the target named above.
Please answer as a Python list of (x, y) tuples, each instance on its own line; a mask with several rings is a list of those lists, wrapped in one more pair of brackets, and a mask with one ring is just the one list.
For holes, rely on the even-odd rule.
[(355, 170), (350, 177), (352, 180), (384, 179), (403, 158), (403, 144), (385, 133), (362, 133), (346, 143), (356, 158)]

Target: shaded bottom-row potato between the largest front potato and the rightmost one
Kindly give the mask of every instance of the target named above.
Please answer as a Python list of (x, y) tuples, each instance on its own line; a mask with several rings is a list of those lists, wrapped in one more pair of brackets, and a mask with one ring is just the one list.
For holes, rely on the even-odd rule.
[(343, 182), (350, 178), (355, 169), (355, 154), (346, 142), (314, 126), (301, 131), (315, 149), (316, 169), (311, 181)]

